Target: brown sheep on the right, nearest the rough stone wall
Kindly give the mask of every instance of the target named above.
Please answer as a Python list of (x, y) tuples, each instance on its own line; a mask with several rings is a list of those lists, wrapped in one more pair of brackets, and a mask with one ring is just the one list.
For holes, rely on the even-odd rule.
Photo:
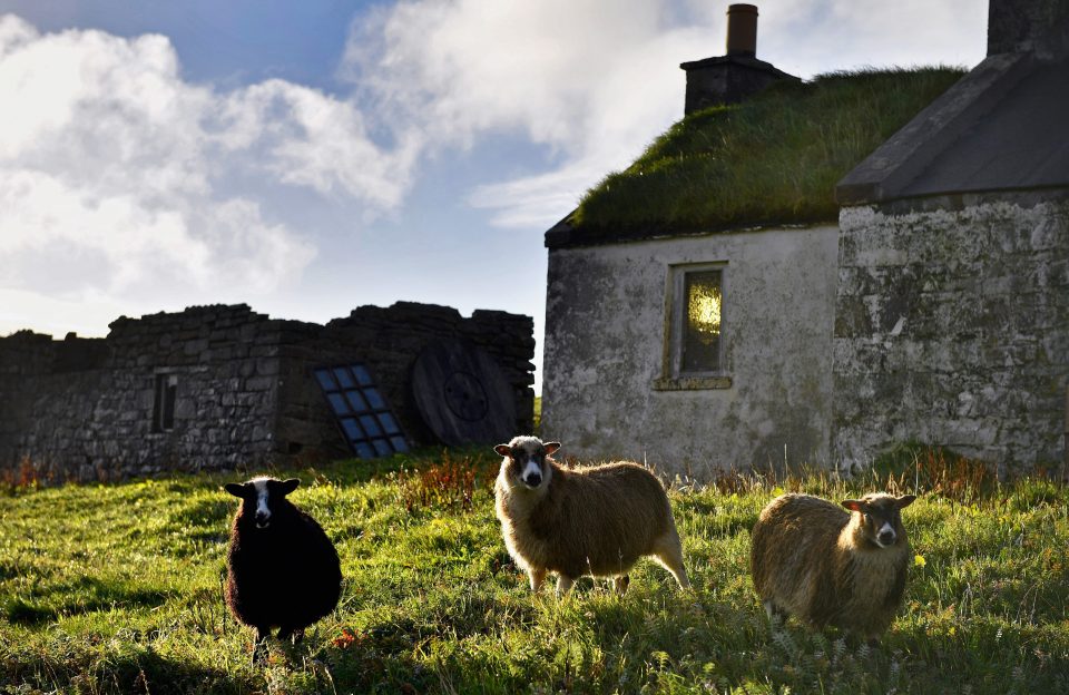
[(842, 506), (808, 495), (772, 500), (754, 526), (749, 566), (769, 618), (797, 616), (876, 640), (902, 603), (910, 542), (901, 510), (913, 495)]

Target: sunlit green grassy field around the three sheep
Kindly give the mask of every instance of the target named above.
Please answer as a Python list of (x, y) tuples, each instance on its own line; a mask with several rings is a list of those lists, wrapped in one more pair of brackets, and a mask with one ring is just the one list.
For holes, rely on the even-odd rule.
[(774, 496), (855, 496), (883, 474), (676, 481), (695, 590), (644, 562), (624, 599), (586, 579), (558, 603), (532, 597), (504, 551), (492, 453), (276, 471), (302, 478), (293, 499), (335, 540), (346, 586), (262, 667), (222, 598), (234, 477), (9, 490), (0, 692), (1069, 692), (1069, 491), (904, 460), (891, 487), (922, 493), (904, 512), (916, 558), (879, 647), (793, 620), (773, 633), (747, 555)]

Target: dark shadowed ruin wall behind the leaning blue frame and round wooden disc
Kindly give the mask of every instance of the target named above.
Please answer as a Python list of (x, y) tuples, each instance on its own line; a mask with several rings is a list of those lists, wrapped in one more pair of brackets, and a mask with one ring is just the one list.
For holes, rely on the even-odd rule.
[[(286, 360), (278, 440), (294, 453), (317, 446), (342, 447), (334, 419), (311, 374), (316, 366), (362, 362), (408, 438), (415, 444), (434, 443), (437, 439), (415, 405), (411, 374), (420, 352), (439, 340), (464, 341), (494, 359), (512, 386), (516, 432), (530, 432), (534, 417), (532, 333), (529, 316), (477, 310), (465, 319), (455, 309), (413, 302), (361, 306), (325, 327), (291, 322), (283, 332)], [(332, 451), (349, 456), (344, 449)]]

